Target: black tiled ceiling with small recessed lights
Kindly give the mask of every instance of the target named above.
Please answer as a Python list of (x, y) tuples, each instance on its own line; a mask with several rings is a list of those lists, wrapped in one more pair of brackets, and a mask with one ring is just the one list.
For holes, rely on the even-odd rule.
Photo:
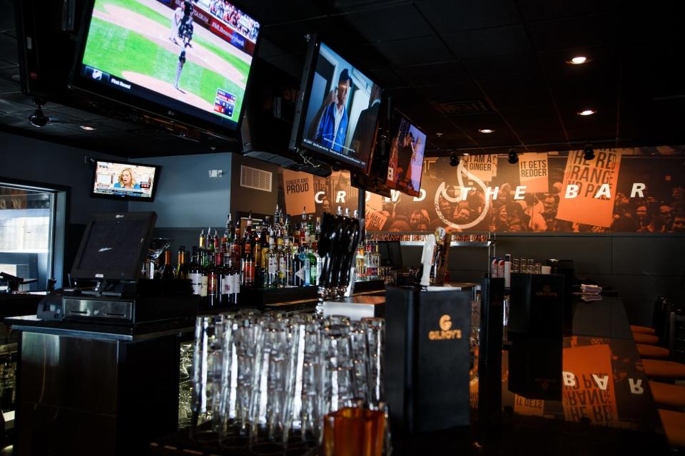
[[(38, 129), (19, 88), (11, 0), (0, 0), (0, 128), (123, 156), (210, 152), (205, 142), (64, 105)], [(427, 151), (563, 150), (685, 143), (685, 33), (679, 1), (250, 1), (258, 58), (300, 77), (305, 33), (387, 88), (429, 134)], [(573, 56), (592, 59), (569, 65)], [(268, 68), (264, 66), (263, 68)], [(267, 74), (255, 75), (259, 78)], [(249, 95), (248, 95), (249, 96)], [(592, 108), (595, 115), (580, 116)], [(84, 132), (79, 125), (96, 125)], [(489, 128), (494, 133), (478, 130)], [(218, 150), (225, 146), (219, 143)]]

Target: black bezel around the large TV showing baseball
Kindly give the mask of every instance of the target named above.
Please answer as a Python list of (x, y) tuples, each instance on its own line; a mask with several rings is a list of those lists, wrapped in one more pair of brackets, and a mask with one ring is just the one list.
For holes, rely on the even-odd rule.
[[(118, 90), (105, 84), (96, 83), (81, 75), (83, 55), (86, 53), (88, 31), (90, 31), (91, 28), (91, 19), (93, 19), (93, 9), (95, 8), (96, 1), (97, 0), (86, 0), (83, 6), (83, 19), (81, 21), (81, 28), (79, 28), (78, 31), (78, 40), (76, 43), (76, 58), (74, 59), (73, 67), (71, 68), (71, 75), (69, 76), (68, 80), (70, 89), (88, 93), (89, 95), (95, 95), (96, 97), (104, 98), (106, 100), (111, 100), (119, 105), (126, 105), (129, 108), (145, 111), (146, 113), (154, 115), (158, 118), (170, 120), (171, 123), (183, 123), (190, 127), (199, 128), (208, 133), (222, 136), (223, 138), (238, 138), (238, 135), (240, 135), (240, 126), (242, 125), (243, 115), (245, 114), (245, 99), (248, 98), (248, 93), (250, 91), (250, 81), (252, 80), (251, 76), (253, 75), (253, 63), (250, 63), (250, 70), (248, 71), (248, 77), (245, 82), (243, 103), (240, 105), (240, 113), (238, 113), (238, 118), (235, 120), (235, 124), (233, 126), (230, 124), (230, 120), (227, 119), (224, 119), (227, 121), (227, 123), (222, 124), (208, 120), (213, 119), (213, 117), (203, 118), (201, 115), (211, 115), (215, 118), (223, 119), (218, 115), (209, 113), (208, 111), (196, 108), (178, 100), (173, 100), (173, 98), (167, 97), (166, 95), (155, 92), (154, 90), (148, 88), (143, 89), (148, 90), (148, 92), (151, 93), (156, 100), (149, 100), (143, 96), (127, 93), (125, 90)], [(254, 60), (257, 58), (257, 54), (259, 52), (259, 45), (261, 43), (260, 36), (263, 33), (261, 30), (263, 21), (256, 18), (249, 9), (243, 8), (242, 4), (236, 4), (234, 0), (230, 0), (230, 3), (236, 8), (240, 9), (240, 11), (248, 14), (250, 18), (254, 19), (260, 24), (260, 33), (255, 41), (255, 51), (252, 56)], [(164, 100), (170, 101), (165, 103)], [(174, 101), (178, 103), (178, 106), (174, 105)], [(196, 114), (193, 114), (193, 111), (195, 111)]]

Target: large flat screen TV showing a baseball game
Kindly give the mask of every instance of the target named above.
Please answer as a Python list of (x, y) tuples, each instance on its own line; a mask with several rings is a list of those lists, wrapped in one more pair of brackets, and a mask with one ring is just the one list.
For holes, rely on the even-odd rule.
[(73, 88), (209, 130), (238, 129), (260, 23), (228, 1), (88, 0)]

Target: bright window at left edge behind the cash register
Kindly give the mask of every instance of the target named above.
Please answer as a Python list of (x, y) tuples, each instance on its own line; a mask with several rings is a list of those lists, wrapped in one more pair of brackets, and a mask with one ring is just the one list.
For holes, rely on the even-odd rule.
[(21, 286), (23, 291), (47, 288), (52, 273), (53, 224), (53, 192), (0, 184), (0, 271), (38, 279)]

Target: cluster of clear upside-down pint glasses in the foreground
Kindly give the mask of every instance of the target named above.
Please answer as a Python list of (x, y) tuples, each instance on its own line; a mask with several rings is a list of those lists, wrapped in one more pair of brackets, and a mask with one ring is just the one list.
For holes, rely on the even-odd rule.
[(384, 346), (382, 318), (198, 316), (191, 438), (320, 442), (326, 414), (383, 407)]

